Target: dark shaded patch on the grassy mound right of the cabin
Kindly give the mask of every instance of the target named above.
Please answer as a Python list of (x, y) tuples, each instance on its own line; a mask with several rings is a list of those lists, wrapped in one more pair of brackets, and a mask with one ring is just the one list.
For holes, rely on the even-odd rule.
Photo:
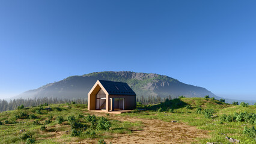
[(168, 109), (180, 109), (182, 107), (186, 107), (187, 103), (184, 101), (180, 100), (180, 98), (175, 98), (174, 100), (166, 100), (165, 102), (161, 102), (159, 104), (155, 104), (152, 106), (147, 106), (145, 109), (147, 110), (157, 110), (159, 108), (162, 108), (163, 111), (166, 111)]

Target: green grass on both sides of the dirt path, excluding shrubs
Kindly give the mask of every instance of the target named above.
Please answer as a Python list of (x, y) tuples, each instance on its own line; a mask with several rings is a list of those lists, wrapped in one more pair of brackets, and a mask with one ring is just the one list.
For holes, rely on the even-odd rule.
[[(52, 111), (44, 110), (46, 107), (51, 107)], [(71, 109), (69, 108), (71, 107)], [(189, 107), (189, 109), (187, 109)], [(197, 109), (200, 107), (203, 112), (205, 109), (213, 109), (217, 115), (216, 118), (205, 118), (203, 113), (197, 113)], [(159, 112), (161, 108), (161, 112)], [(36, 112), (41, 109), (41, 114)], [(234, 106), (232, 104), (222, 103), (218, 100), (212, 100), (211, 98), (178, 98), (165, 103), (147, 105), (138, 105), (138, 109), (145, 109), (145, 111), (135, 113), (122, 113), (121, 116), (135, 116), (136, 118), (149, 118), (160, 119), (162, 121), (178, 121), (187, 125), (192, 125), (201, 130), (209, 131), (210, 137), (198, 138), (199, 143), (206, 142), (221, 142), (228, 143), (228, 140), (224, 139), (225, 136), (239, 139), (240, 143), (256, 143), (256, 140), (243, 134), (245, 127), (251, 128), (256, 126), (247, 122), (221, 122), (220, 116), (223, 114), (234, 115), (235, 112), (248, 112), (255, 113), (256, 106)], [(173, 112), (169, 112), (172, 109)], [(157, 111), (158, 110), (158, 111)], [(34, 114), (35, 119), (29, 119), (29, 116)], [(25, 140), (20, 139), (23, 133), (28, 134), (35, 140), (35, 143), (63, 143), (63, 142), (78, 142), (82, 139), (112, 139), (117, 134), (132, 134), (133, 131), (142, 130), (144, 125), (141, 121), (129, 122), (129, 121), (117, 121), (114, 119), (108, 119), (111, 122), (109, 130), (97, 130), (97, 128), (90, 128), (90, 122), (87, 122), (85, 117), (87, 116), (87, 106), (84, 104), (50, 104), (43, 107), (28, 107), (25, 109), (11, 110), (0, 113), (0, 143), (25, 143)], [(24, 115), (19, 117), (19, 115)], [(74, 115), (78, 122), (88, 125), (88, 129), (82, 131), (79, 136), (70, 136), (70, 123), (67, 121), (68, 116)], [(78, 116), (80, 117), (78, 118)], [(81, 116), (84, 115), (85, 117)], [(40, 128), (46, 120), (52, 116), (50, 124), (46, 124), (47, 130), (41, 131)], [(56, 121), (57, 116), (62, 116), (64, 122), (58, 124)], [(106, 115), (106, 118), (109, 116)], [(99, 119), (99, 118), (97, 118)], [(8, 121), (8, 124), (5, 124)], [(34, 125), (33, 121), (40, 122), (40, 125)], [(20, 130), (25, 130), (21, 133)], [(66, 133), (68, 131), (68, 133)], [(61, 136), (56, 137), (55, 133), (60, 133)], [(94, 134), (95, 133), (95, 134)], [(225, 135), (224, 135), (225, 134)], [(198, 142), (197, 142), (198, 143)]]

